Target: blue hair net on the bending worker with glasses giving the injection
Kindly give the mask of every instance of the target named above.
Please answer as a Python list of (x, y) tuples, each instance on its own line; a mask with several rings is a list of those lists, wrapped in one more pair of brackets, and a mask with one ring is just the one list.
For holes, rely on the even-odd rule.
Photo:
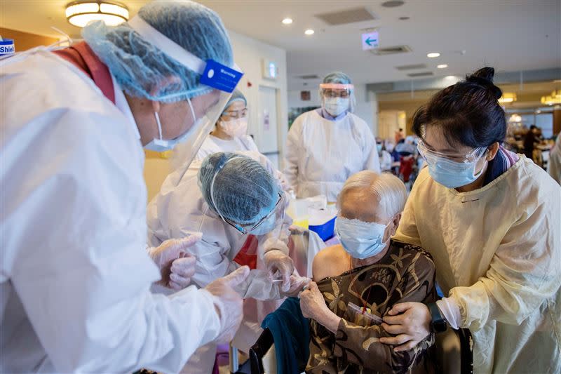
[(232, 152), (207, 156), (198, 172), (198, 184), (212, 211), (240, 225), (264, 218), (278, 201), (279, 188), (273, 176), (257, 161)]

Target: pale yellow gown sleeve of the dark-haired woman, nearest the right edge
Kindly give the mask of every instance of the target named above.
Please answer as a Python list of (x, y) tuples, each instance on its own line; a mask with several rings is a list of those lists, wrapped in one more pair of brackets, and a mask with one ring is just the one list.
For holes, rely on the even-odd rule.
[[(557, 189), (559, 196), (559, 189)], [(497, 248), (485, 276), (454, 287), (461, 326), (479, 330), (489, 321), (520, 325), (561, 285), (560, 201), (525, 212)]]

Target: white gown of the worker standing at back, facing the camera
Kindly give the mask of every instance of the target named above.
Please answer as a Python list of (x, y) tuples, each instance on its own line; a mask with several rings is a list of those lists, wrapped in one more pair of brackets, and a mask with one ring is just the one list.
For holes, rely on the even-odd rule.
[(292, 123), (284, 174), (298, 198), (337, 201), (344, 182), (363, 170), (380, 173), (380, 162), (372, 130), (355, 114), (330, 121), (312, 110)]

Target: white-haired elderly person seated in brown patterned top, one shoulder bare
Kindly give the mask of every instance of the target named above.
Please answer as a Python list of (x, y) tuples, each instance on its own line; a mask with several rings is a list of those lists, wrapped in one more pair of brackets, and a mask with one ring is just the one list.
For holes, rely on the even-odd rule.
[(313, 279), (300, 294), (311, 319), (306, 373), (431, 373), (431, 333), (416, 347), (394, 349), (379, 323), (398, 302), (434, 302), (435, 267), (423, 248), (391, 239), (405, 206), (395, 176), (361, 171), (346, 181), (337, 205), (341, 245), (313, 260)]

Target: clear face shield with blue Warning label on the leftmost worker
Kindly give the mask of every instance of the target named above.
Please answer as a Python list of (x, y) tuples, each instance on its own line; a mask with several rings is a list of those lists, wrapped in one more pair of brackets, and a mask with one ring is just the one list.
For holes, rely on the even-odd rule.
[[(226, 107), (243, 73), (236, 66), (231, 68), (214, 60), (201, 60), (158, 32), (154, 27), (151, 27), (138, 15), (128, 21), (128, 24), (142, 36), (142, 39), (159, 48), (170, 58), (180, 62), (187, 69), (201, 75), (201, 95), (194, 95), (193, 98), (187, 99), (189, 109), (194, 115), (194, 122), (185, 133), (177, 138), (172, 140), (160, 139), (162, 143), (166, 141), (171, 141), (174, 145), (177, 143), (173, 166), (175, 168), (184, 166), (184, 171), (187, 171), (187, 167), (193, 161), (208, 133), (212, 131), (212, 127), (215, 126), (219, 116), (224, 112), (224, 107)], [(163, 100), (173, 101), (174, 97), (184, 95), (185, 93), (177, 92), (166, 96)]]

